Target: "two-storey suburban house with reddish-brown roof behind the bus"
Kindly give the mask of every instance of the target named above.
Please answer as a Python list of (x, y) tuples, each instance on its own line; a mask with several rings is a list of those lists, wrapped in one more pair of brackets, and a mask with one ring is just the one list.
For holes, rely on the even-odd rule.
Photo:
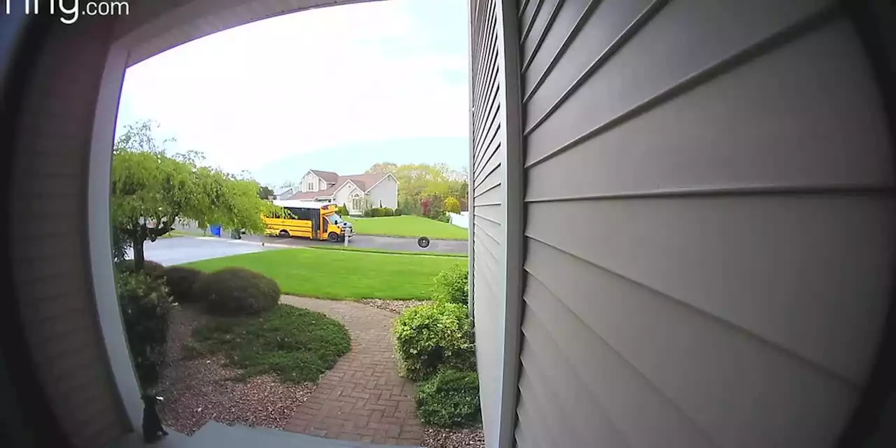
[(289, 197), (304, 201), (345, 204), (349, 214), (359, 215), (366, 207), (398, 207), (398, 180), (392, 173), (340, 176), (332, 171), (309, 170)]

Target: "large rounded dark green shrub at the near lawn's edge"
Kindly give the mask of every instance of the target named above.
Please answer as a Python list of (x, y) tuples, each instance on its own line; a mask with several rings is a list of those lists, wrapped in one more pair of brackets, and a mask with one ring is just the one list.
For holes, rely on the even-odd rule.
[(233, 267), (201, 276), (194, 294), (211, 314), (259, 314), (280, 301), (280, 285), (258, 272)]

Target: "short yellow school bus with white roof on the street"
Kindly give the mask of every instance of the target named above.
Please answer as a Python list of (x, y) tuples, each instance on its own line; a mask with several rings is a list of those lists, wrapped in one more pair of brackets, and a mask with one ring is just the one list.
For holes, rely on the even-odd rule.
[(264, 217), (264, 234), (277, 237), (306, 237), (332, 243), (345, 241), (355, 232), (351, 223), (343, 220), (332, 202), (274, 201), (288, 213), (284, 218)]

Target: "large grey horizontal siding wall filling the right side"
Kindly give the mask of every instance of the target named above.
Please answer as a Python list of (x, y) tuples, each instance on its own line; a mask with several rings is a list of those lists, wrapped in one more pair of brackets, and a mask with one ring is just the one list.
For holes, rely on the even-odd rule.
[(896, 243), (852, 25), (811, 0), (554, 4), (520, 25), (517, 444), (831, 446)]

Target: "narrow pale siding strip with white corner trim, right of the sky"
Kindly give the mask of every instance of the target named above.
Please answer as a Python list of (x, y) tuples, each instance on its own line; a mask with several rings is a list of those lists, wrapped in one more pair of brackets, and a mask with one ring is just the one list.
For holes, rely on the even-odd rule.
[[(470, 215), (471, 303), (477, 323), (477, 361), (487, 446), (512, 439), (513, 404), (505, 388), (508, 358), (506, 178), (507, 94), (500, 0), (470, 2), (471, 105)], [(513, 350), (515, 351), (515, 350)], [(503, 442), (502, 442), (503, 441)]]

